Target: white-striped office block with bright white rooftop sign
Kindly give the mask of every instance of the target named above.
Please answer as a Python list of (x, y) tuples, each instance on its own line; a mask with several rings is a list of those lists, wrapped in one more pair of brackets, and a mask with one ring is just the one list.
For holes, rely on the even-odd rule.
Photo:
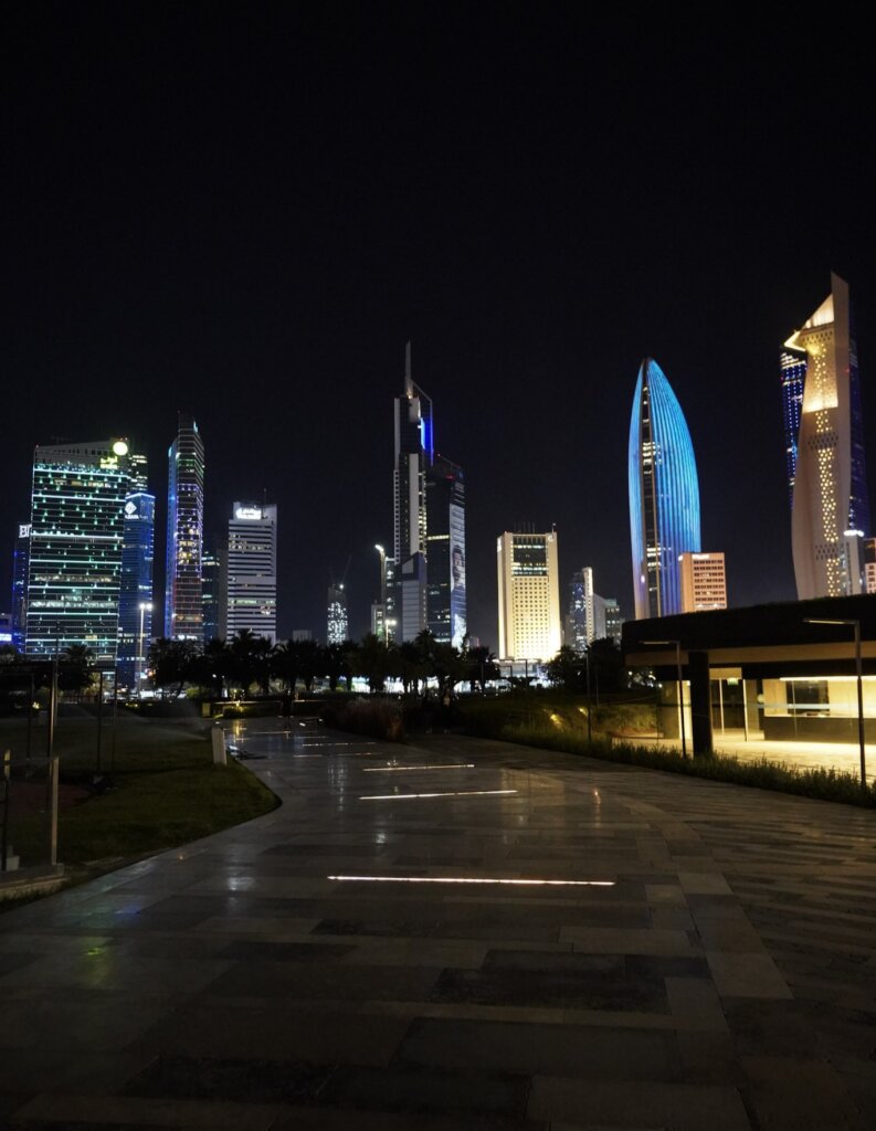
[(225, 639), (249, 629), (277, 638), (277, 508), (235, 502), (229, 520)]

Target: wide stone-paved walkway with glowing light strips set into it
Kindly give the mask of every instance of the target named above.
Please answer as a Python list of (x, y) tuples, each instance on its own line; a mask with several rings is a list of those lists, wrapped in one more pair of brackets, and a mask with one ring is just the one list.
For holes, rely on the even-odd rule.
[(0, 914), (1, 1126), (876, 1125), (876, 813), (264, 726), (282, 808)]

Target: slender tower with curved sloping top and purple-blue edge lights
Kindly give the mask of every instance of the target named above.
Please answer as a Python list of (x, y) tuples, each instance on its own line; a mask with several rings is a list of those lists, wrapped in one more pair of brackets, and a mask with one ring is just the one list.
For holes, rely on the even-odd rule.
[(203, 549), (204, 441), (192, 417), (180, 413), (177, 439), (168, 451), (164, 634), (169, 638), (204, 638)]

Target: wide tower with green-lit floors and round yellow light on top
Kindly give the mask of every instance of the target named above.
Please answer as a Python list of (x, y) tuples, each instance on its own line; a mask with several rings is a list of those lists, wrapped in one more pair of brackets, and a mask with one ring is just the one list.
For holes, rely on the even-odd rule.
[(28, 657), (85, 645), (95, 662), (115, 662), (124, 502), (135, 482), (126, 440), (35, 449)]

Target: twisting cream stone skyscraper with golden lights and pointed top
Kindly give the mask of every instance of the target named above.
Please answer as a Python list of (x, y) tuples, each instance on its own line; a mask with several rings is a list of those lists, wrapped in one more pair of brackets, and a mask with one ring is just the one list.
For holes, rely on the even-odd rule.
[(804, 369), (791, 501), (797, 596), (849, 596), (861, 592), (870, 509), (849, 287), (838, 275), (784, 345)]

